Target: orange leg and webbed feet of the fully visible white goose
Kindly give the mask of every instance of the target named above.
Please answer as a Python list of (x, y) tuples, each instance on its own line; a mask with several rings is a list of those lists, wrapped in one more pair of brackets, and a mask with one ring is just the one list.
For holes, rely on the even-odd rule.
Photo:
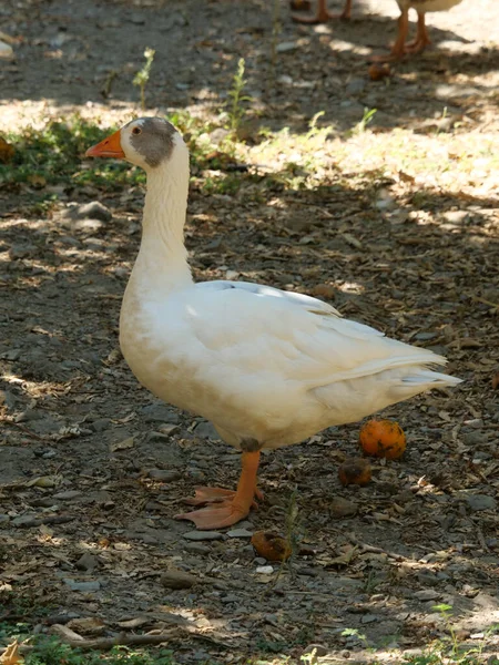
[(201, 503), (213, 503), (213, 505), (175, 515), (175, 519), (191, 520), (201, 530), (222, 529), (243, 520), (255, 503), (259, 450), (243, 452), (241, 457), (243, 470), (235, 492), (218, 488), (200, 488), (196, 491), (196, 498), (190, 502), (194, 505)]

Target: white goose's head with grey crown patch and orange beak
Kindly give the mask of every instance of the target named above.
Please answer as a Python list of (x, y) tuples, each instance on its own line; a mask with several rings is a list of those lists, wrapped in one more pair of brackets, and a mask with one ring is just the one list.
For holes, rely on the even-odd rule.
[(162, 117), (140, 117), (89, 147), (85, 156), (125, 160), (150, 173), (184, 151), (182, 136), (172, 123)]

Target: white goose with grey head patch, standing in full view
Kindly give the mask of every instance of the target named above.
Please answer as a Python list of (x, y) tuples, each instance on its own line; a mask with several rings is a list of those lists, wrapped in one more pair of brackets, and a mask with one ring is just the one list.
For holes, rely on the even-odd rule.
[(211, 420), (242, 450), (236, 492), (200, 488), (177, 515), (228, 526), (254, 504), (259, 451), (304, 441), (460, 379), (431, 351), (343, 319), (329, 305), (246, 282), (194, 284), (183, 241), (189, 152), (160, 117), (134, 120), (86, 151), (145, 170), (143, 233), (120, 319), (123, 356), (165, 401)]

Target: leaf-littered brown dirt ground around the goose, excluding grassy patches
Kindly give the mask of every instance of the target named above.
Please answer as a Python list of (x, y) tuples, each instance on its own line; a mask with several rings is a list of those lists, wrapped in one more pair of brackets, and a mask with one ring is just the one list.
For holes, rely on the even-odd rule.
[[(103, 125), (129, 120), (131, 79), (152, 47), (150, 113), (216, 115), (244, 57), (255, 117), (273, 130), (302, 132), (325, 111), (320, 121), (340, 134), (376, 108), (377, 136), (437, 135), (451, 119), (457, 139), (499, 141), (498, 2), (430, 16), (435, 47), (395, 65), (389, 85), (366, 70), (395, 35), (395, 2), (354, 2), (353, 21), (319, 28), (292, 23), (283, 2), (275, 69), (271, 6), (7, 0), (0, 29), (22, 42), (0, 63), (0, 131), (75, 110)], [(460, 641), (485, 643), (486, 659), (499, 652), (487, 634), (499, 623), (499, 176), (460, 193), (353, 178), (266, 201), (193, 186), (195, 277), (230, 270), (325, 296), (348, 317), (442, 352), (465, 382), (384, 412), (408, 449), (376, 462), (366, 488), (337, 479), (358, 453), (358, 424), (265, 454), (265, 500), (212, 540), (173, 515), (198, 484), (234, 487), (238, 454), (210, 423), (141, 389), (118, 349), (141, 192), (59, 190), (57, 209), (37, 215), (23, 191), (0, 188), (3, 618), (101, 636), (166, 626), (181, 663), (297, 662), (310, 644), (319, 662), (398, 663), (446, 633), (434, 608), (445, 603)], [(94, 200), (111, 219), (64, 216)], [(296, 553), (279, 569), (248, 539), (285, 533), (295, 501)], [(169, 587), (172, 567), (192, 575), (187, 587)]]

